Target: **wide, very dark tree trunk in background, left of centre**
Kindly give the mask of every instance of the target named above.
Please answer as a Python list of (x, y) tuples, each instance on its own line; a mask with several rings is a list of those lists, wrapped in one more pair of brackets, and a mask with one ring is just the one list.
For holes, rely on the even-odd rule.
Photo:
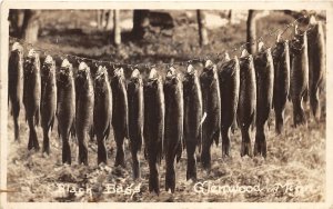
[(149, 10), (134, 10), (132, 29), (133, 38), (142, 39), (149, 24)]

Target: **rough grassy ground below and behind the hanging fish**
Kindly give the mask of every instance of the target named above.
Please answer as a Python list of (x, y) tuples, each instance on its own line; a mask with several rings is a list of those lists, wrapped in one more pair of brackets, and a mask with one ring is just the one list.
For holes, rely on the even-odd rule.
[[(193, 11), (192, 11), (193, 12)], [(219, 12), (215, 12), (219, 13)], [(109, 43), (110, 31), (97, 31), (90, 26), (94, 18), (92, 11), (50, 11), (41, 28), (37, 46), (68, 54), (120, 61), (125, 63), (161, 63), (185, 61), (202, 54), (223, 52), (245, 40), (245, 22), (226, 24), (209, 30), (210, 44), (203, 49), (198, 44), (195, 16), (172, 12), (178, 20), (172, 31), (153, 29), (144, 40), (134, 41), (129, 32), (123, 33), (123, 46), (115, 50)], [(130, 17), (124, 11), (123, 17)], [(184, 18), (185, 17), (185, 18)], [(182, 20), (182, 21), (181, 21)], [(258, 21), (258, 36), (269, 28), (283, 28), (292, 21), (280, 12), (273, 12)], [(292, 32), (289, 31), (289, 34)], [(290, 38), (286, 34), (285, 38)], [(266, 37), (266, 44), (274, 43), (275, 37)], [(232, 56), (239, 56), (240, 51)], [(51, 155), (28, 151), (29, 129), (21, 112), (21, 142), (13, 140), (13, 121), (8, 115), (8, 186), (17, 192), (8, 193), (8, 201), (208, 201), (208, 202), (295, 202), (325, 200), (325, 96), (321, 97), (323, 117), (316, 122), (305, 104), (307, 126), (292, 127), (292, 104), (286, 108), (284, 132), (274, 132), (272, 111), (270, 128), (266, 128), (268, 157), (240, 157), (240, 131), (232, 135), (231, 157), (222, 158), (221, 140), (212, 147), (212, 170), (206, 173), (198, 166), (198, 182), (185, 180), (186, 155), (176, 165), (176, 190), (164, 191), (164, 161), (160, 166), (161, 193), (148, 191), (149, 169), (143, 155), (141, 159), (142, 178), (133, 181), (131, 177), (131, 156), (127, 148), (127, 169), (115, 168), (115, 145), (113, 135), (107, 141), (108, 165), (97, 165), (95, 141), (89, 145), (89, 166), (77, 163), (77, 145), (71, 141), (71, 166), (61, 163), (61, 141), (58, 140), (57, 125), (51, 137)], [(255, 130), (254, 130), (255, 131)], [(251, 132), (252, 145), (254, 131)], [(41, 128), (38, 130), (42, 143)], [(245, 187), (246, 186), (246, 187)], [(220, 190), (216, 191), (216, 188)], [(210, 190), (208, 190), (210, 189)], [(244, 189), (246, 191), (244, 191)]]

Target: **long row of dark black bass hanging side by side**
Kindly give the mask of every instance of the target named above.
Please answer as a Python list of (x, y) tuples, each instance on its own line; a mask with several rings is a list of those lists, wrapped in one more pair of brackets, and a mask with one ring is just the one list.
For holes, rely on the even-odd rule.
[(204, 169), (211, 167), (211, 147), (222, 136), (222, 155), (230, 155), (230, 129), (241, 130), (241, 156), (252, 156), (250, 126), (255, 126), (254, 155), (266, 156), (265, 125), (275, 111), (275, 130), (281, 133), (287, 98), (293, 103), (294, 126), (306, 123), (302, 101), (307, 100), (320, 119), (319, 91), (325, 70), (323, 29), (313, 29), (292, 41), (278, 37), (273, 49), (259, 43), (254, 56), (243, 50), (240, 58), (218, 63), (206, 60), (201, 74), (192, 64), (183, 77), (174, 67), (162, 79), (155, 68), (143, 81), (138, 69), (127, 81), (123, 69), (90, 67), (81, 62), (77, 73), (64, 59), (60, 67), (48, 56), (41, 64), (31, 49), (12, 46), (9, 58), (9, 100), (14, 138), (20, 139), (22, 103), (29, 125), (28, 149), (39, 149), (37, 127), (43, 130), (42, 151), (50, 152), (54, 120), (62, 139), (62, 162), (71, 163), (70, 137), (78, 140), (79, 163), (88, 165), (87, 141), (97, 137), (98, 163), (107, 163), (105, 140), (113, 128), (115, 166), (125, 166), (124, 139), (129, 139), (133, 178), (140, 178), (139, 153), (144, 143), (149, 162), (149, 190), (159, 193), (159, 165), (165, 159), (165, 190), (175, 189), (174, 161), (186, 150), (186, 178), (196, 179), (196, 156)]

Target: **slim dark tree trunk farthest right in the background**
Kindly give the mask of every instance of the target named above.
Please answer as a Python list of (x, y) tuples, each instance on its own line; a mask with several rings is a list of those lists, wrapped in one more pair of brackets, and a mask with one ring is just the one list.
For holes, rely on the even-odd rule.
[(246, 21), (246, 42), (248, 51), (253, 54), (256, 52), (256, 42), (253, 42), (256, 39), (256, 26), (255, 26), (255, 11), (249, 10), (248, 21)]

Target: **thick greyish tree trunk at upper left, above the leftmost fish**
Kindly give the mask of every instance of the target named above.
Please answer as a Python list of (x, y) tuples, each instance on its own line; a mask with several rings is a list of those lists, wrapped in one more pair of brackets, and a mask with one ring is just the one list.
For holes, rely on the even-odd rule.
[(40, 13), (38, 10), (24, 10), (21, 36), (27, 42), (33, 43), (38, 40)]

